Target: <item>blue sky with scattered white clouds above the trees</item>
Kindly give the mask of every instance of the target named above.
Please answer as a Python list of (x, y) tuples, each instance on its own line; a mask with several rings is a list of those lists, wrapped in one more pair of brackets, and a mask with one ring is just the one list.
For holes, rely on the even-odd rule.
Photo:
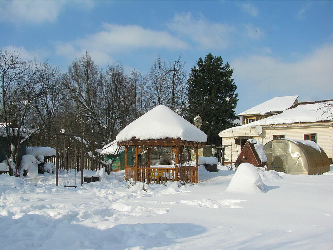
[(62, 72), (86, 51), (147, 74), (208, 53), (233, 68), (240, 113), (277, 96), (333, 99), (333, 1), (0, 1), (0, 48)]

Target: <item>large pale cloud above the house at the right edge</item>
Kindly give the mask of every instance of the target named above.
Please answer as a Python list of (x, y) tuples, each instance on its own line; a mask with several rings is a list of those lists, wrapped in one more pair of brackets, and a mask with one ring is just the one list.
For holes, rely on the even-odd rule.
[[(248, 88), (248, 95), (271, 92), (299, 94), (307, 99), (332, 97), (333, 44), (326, 44), (295, 62), (283, 62), (272, 56), (249, 55), (230, 64), (239, 88)], [(246, 86), (245, 86), (246, 84)], [(255, 90), (258, 91), (256, 93)]]

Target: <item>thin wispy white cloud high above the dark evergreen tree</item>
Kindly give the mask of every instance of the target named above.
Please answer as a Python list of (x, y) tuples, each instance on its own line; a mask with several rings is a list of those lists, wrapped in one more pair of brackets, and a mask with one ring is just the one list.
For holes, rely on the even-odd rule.
[(231, 34), (236, 30), (229, 24), (213, 23), (191, 13), (175, 14), (168, 28), (187, 37), (203, 48), (226, 48), (231, 43)]

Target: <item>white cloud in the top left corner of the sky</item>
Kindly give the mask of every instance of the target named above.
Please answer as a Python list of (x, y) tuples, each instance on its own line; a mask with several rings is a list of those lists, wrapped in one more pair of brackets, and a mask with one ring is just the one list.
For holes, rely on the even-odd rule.
[(0, 20), (16, 24), (54, 22), (62, 1), (0, 1)]

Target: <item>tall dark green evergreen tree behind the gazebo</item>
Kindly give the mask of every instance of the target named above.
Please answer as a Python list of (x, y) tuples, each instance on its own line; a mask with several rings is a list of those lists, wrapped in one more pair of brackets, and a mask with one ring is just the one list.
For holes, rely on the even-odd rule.
[(220, 145), (218, 133), (233, 126), (238, 117), (235, 114), (238, 94), (231, 78), (233, 69), (221, 56), (208, 54), (204, 60), (200, 57), (197, 67), (191, 69), (187, 80), (188, 108), (186, 118), (193, 123), (198, 114), (202, 119), (200, 128), (207, 134), (207, 144)]

